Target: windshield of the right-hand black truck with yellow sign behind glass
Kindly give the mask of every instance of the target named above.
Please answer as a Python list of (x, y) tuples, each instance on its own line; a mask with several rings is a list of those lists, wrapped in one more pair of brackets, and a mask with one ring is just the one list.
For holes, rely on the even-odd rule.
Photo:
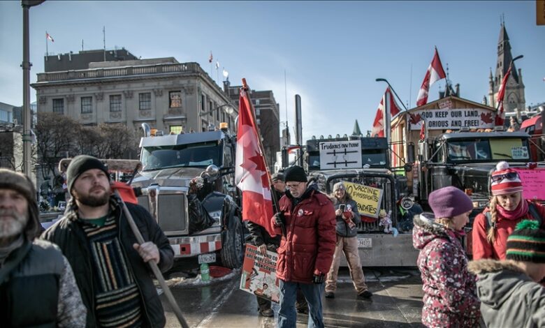
[(520, 138), (449, 140), (449, 161), (528, 161), (528, 142)]

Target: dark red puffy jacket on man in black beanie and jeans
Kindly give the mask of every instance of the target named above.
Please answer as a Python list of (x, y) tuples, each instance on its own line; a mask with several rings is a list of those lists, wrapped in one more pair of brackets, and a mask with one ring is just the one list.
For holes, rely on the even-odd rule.
[[(314, 271), (327, 274), (335, 253), (335, 209), (328, 196), (309, 186), (297, 204), (289, 193), (279, 202), (286, 236), (278, 248), (276, 276), (283, 281), (312, 283)], [(275, 232), (282, 229), (271, 219)]]

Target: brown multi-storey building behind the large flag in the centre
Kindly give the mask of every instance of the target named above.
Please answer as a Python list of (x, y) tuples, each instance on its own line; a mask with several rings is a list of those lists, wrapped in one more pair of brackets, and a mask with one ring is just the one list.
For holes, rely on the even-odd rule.
[[(231, 86), (228, 80), (224, 81), (224, 92), (228, 94), (238, 108), (239, 86)], [(277, 161), (277, 151), (280, 151), (280, 112), (273, 91), (256, 91), (250, 93), (252, 104), (256, 110), (256, 124), (261, 133), (261, 142), (269, 170), (273, 170)]]

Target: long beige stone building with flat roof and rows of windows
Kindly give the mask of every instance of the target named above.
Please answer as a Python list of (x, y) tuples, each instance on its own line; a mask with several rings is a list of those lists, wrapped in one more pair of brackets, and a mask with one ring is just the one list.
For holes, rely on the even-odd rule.
[(235, 131), (238, 107), (199, 64), (173, 57), (88, 62), (85, 69), (38, 73), (31, 86), (38, 112), (86, 125), (123, 123), (138, 130), (147, 123), (180, 133), (227, 122)]

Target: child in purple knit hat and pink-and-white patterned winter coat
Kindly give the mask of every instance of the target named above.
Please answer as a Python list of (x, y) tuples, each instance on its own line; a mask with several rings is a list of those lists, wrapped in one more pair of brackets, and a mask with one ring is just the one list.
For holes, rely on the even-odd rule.
[(433, 214), (414, 216), (413, 246), (419, 249), (426, 327), (478, 327), (480, 311), (475, 276), (459, 238), (473, 209), (470, 197), (453, 186), (428, 197)]

